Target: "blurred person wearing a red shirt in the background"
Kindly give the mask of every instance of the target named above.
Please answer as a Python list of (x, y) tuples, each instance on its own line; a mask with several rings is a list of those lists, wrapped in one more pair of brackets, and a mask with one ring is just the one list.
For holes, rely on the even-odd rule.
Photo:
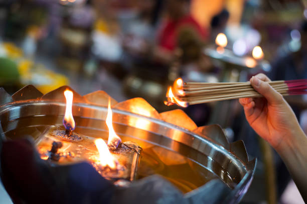
[[(208, 34), (191, 16), (190, 0), (167, 0), (164, 3), (166, 17), (159, 25), (156, 45), (150, 46), (140, 43), (135, 46), (134, 52), (135, 55), (143, 55), (162, 64), (170, 64), (178, 55), (176, 48), (180, 46), (179, 42), (187, 41), (181, 40), (182, 36), (196, 39), (201, 44), (203, 40), (207, 39)], [(147, 11), (147, 13), (150, 12)]]

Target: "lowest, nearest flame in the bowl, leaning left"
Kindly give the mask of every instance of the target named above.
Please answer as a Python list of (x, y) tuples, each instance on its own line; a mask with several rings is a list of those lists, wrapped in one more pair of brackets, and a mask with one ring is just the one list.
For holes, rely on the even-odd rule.
[(116, 168), (117, 160), (113, 157), (107, 144), (104, 142), (103, 139), (98, 138), (95, 139), (95, 145), (99, 152), (99, 159), (98, 162), (103, 166), (109, 166), (110, 168)]

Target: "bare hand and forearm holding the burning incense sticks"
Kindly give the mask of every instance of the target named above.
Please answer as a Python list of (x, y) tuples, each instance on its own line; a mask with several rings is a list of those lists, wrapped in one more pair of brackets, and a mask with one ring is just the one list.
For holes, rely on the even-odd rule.
[(251, 85), (263, 97), (240, 98), (239, 102), (250, 126), (277, 151), (307, 202), (307, 137), (289, 104), (268, 81), (262, 73), (253, 76)]

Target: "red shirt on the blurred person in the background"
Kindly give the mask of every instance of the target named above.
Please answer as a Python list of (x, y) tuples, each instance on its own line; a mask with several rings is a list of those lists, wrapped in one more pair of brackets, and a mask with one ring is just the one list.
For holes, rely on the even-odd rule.
[(198, 24), (198, 22), (191, 16), (187, 15), (178, 20), (167, 20), (162, 26), (158, 42), (159, 45), (167, 50), (174, 50), (177, 45), (177, 35), (182, 27), (190, 26), (199, 33), (202, 39), (206, 39), (208, 34)]

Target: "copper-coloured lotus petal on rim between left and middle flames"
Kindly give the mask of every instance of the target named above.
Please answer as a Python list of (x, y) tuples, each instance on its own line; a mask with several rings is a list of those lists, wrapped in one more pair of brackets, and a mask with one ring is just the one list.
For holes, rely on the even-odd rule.
[(96, 105), (107, 106), (109, 98), (111, 101), (111, 106), (118, 103), (114, 98), (112, 98), (109, 94), (107, 94), (103, 90), (96, 90), (94, 92), (83, 95), (83, 97), (85, 97), (90, 103), (96, 104)]

